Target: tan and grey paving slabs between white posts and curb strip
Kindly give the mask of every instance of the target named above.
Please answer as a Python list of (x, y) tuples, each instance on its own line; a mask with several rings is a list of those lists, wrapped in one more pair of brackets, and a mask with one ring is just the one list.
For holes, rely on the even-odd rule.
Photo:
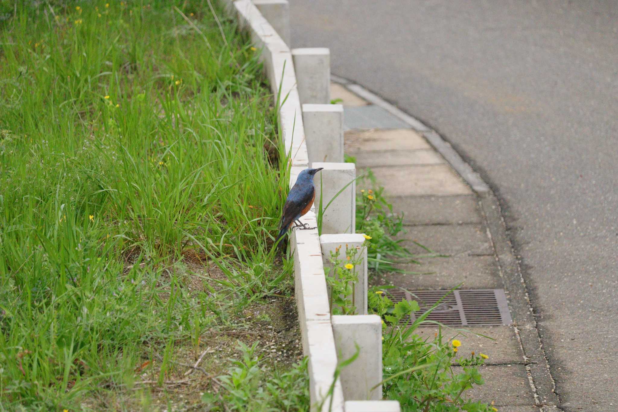
[[(373, 170), (394, 212), (405, 214), (404, 245), (422, 254), (423, 250), (409, 242), (415, 240), (449, 255), (421, 259), (422, 266), (402, 266), (408, 271), (433, 274), (389, 274), (370, 282), (407, 290), (450, 289), (463, 282), (464, 289), (504, 288), (509, 298), (478, 195), (420, 132), (400, 118), (339, 83), (332, 83), (331, 99), (341, 99), (344, 104), (345, 153), (357, 159), (357, 169)], [(489, 355), (486, 366), (480, 368), (485, 385), (468, 392), (468, 396), (493, 403), (504, 412), (540, 411), (544, 403), (535, 392), (530, 374), (534, 361), (525, 356), (515, 327), (468, 330), (495, 339), (474, 334), (458, 337), (462, 355), (468, 356), (470, 351)], [(419, 332), (433, 335), (435, 330), (425, 327)]]

